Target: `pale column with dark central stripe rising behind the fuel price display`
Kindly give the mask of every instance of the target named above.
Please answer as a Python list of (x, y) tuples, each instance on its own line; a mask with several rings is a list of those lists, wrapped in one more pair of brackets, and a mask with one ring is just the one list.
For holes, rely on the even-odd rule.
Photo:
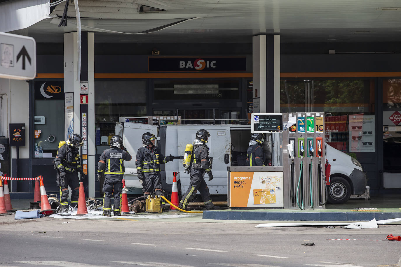
[(259, 102), (261, 113), (280, 112), (280, 36), (253, 36), (252, 60), (254, 108)]

